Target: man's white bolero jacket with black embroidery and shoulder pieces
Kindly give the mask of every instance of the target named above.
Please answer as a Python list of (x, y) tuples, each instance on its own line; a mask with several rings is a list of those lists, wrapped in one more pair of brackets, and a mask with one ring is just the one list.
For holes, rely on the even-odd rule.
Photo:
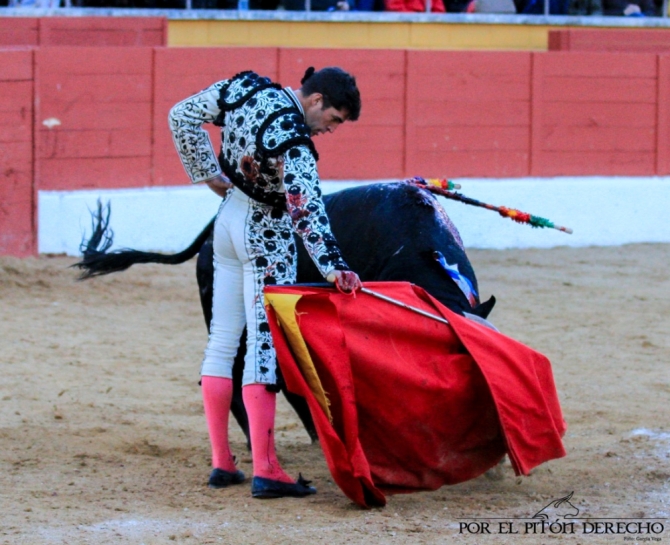
[[(321, 274), (349, 269), (330, 229), (318, 155), (293, 91), (242, 72), (179, 102), (168, 119), (193, 183), (223, 171), (250, 198), (273, 206), (280, 215), (288, 212)], [(218, 160), (205, 123), (221, 127)]]

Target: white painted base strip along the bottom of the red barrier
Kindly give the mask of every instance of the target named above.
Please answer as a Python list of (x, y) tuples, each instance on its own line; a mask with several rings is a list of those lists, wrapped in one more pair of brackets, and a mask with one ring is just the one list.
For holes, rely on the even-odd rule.
[[(387, 182), (391, 180), (375, 180)], [(460, 192), (570, 227), (533, 229), (495, 212), (440, 198), (468, 248), (550, 248), (670, 242), (670, 177), (461, 179)], [(371, 181), (323, 182), (331, 193)], [(204, 186), (40, 191), (38, 250), (79, 255), (91, 234), (90, 211), (110, 202), (113, 248), (176, 252), (216, 214), (220, 199)], [(364, 214), (365, 211), (361, 210)]]

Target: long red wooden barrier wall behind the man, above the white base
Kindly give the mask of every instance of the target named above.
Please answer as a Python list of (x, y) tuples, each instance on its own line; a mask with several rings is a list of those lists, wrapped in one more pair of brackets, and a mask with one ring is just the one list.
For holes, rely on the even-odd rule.
[(0, 54), (0, 253), (34, 250), (35, 189), (188, 183), (170, 107), (248, 68), (294, 88), (310, 65), (356, 75), (360, 120), (315, 141), (322, 178), (670, 174), (670, 55), (150, 47)]

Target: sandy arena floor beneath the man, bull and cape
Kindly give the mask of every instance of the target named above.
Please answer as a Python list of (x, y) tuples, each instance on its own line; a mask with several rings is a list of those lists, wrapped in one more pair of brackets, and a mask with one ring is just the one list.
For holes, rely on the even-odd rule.
[[(470, 257), (482, 295), (498, 298), (493, 322), (553, 363), (568, 456), (530, 477), (507, 465), (501, 479), (393, 496), (369, 511), (333, 484), (285, 403), (280, 457), (319, 493), (263, 502), (247, 485), (205, 486), (194, 262), (77, 283), (72, 258), (0, 258), (0, 543), (667, 543), (670, 245)], [(663, 532), (503, 535), (494, 521), (492, 535), (459, 533), (476, 517), (518, 529), (570, 492), (580, 517), (653, 518)]]

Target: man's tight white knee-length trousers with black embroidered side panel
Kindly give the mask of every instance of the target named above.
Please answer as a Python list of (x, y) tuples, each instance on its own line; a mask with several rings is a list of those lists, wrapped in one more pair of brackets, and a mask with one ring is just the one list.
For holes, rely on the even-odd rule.
[(275, 384), (277, 356), (263, 301), (269, 284), (296, 279), (296, 249), (291, 220), (228, 192), (214, 224), (212, 323), (201, 375), (233, 377), (233, 363), (244, 326), (247, 352), (242, 384)]

